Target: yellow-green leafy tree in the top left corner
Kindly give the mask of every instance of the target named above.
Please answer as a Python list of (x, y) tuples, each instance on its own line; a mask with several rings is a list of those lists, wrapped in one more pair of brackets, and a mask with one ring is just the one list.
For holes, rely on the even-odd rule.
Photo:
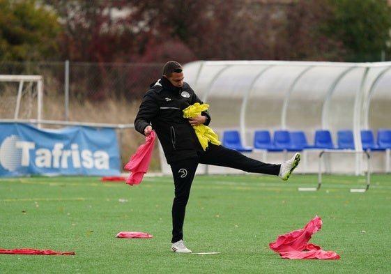
[(36, 0), (0, 0), (0, 61), (56, 59), (57, 19)]

